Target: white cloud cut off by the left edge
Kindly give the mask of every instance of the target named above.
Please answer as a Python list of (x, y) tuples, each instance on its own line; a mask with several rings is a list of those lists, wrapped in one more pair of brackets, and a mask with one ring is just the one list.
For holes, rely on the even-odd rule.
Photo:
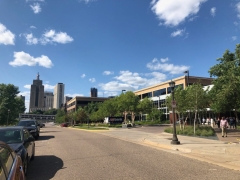
[(0, 44), (14, 45), (15, 35), (0, 23)]

